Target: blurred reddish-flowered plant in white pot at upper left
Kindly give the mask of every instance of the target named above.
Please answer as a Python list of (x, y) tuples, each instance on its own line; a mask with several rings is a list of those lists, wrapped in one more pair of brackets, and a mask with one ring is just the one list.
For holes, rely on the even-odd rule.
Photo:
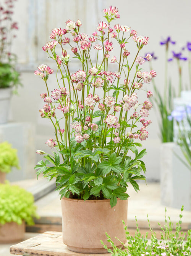
[(12, 32), (18, 29), (12, 19), (14, 1), (0, 3), (0, 124), (7, 122), (11, 94), (21, 85), (20, 74), (15, 69), (16, 55), (11, 53), (12, 40), (15, 38)]

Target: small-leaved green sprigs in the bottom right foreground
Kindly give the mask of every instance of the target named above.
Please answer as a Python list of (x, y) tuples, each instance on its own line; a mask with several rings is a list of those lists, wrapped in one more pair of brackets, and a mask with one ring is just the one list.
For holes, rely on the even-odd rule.
[(181, 208), (181, 214), (179, 216), (180, 220), (176, 223), (175, 230), (173, 230), (173, 223), (170, 220), (170, 217), (168, 217), (167, 221), (165, 209), (165, 225), (162, 227), (159, 224), (161, 229), (160, 240), (156, 238), (156, 234), (152, 231), (149, 218), (147, 220), (149, 224), (149, 230), (151, 232), (151, 242), (148, 241), (148, 232), (145, 237), (141, 235), (141, 232), (138, 228), (137, 218), (135, 218), (137, 228), (134, 236), (129, 235), (127, 226), (125, 226), (126, 239), (128, 241), (128, 245), (125, 245), (125, 249), (117, 248), (107, 233), (107, 241), (110, 242), (113, 250), (108, 249), (102, 241), (101, 243), (104, 245), (104, 248), (112, 254), (112, 256), (191, 256), (191, 230), (188, 230), (187, 234), (181, 231), (182, 211), (183, 207)]

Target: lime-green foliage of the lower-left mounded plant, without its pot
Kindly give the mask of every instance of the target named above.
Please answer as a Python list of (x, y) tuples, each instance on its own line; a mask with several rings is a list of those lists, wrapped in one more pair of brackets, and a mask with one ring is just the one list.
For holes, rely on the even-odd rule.
[(25, 221), (33, 225), (34, 217), (38, 216), (31, 193), (16, 185), (0, 184), (0, 224)]

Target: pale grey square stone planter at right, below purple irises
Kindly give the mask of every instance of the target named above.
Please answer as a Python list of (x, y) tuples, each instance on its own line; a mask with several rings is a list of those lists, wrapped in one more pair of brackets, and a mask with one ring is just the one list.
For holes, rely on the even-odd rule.
[(178, 209), (184, 205), (191, 211), (191, 170), (179, 159), (184, 159), (180, 147), (175, 142), (163, 143), (160, 154), (162, 205)]

